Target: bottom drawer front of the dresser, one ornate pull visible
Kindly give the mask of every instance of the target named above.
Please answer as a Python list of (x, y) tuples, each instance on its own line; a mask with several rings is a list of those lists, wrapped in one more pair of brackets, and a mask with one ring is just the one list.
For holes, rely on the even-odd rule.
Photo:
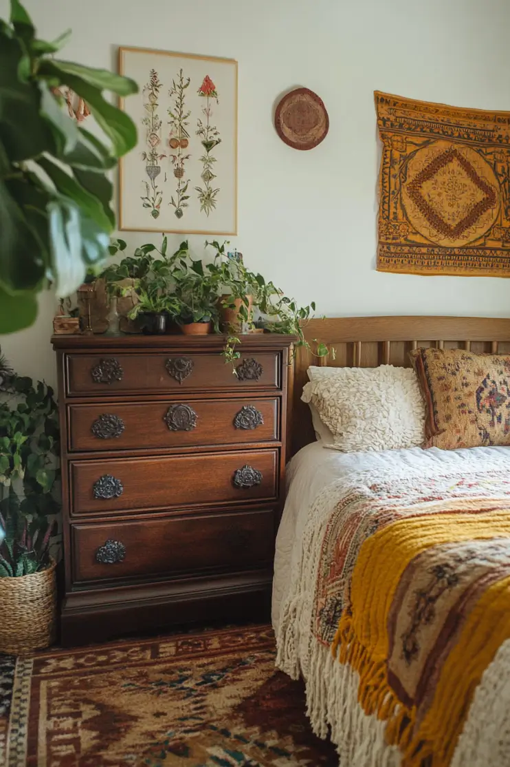
[(259, 567), (273, 558), (274, 512), (73, 525), (72, 542), (75, 582)]

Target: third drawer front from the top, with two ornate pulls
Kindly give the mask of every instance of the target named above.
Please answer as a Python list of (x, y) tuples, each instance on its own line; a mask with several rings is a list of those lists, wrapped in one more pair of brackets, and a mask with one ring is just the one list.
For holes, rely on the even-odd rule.
[(74, 515), (276, 499), (278, 450), (71, 461)]

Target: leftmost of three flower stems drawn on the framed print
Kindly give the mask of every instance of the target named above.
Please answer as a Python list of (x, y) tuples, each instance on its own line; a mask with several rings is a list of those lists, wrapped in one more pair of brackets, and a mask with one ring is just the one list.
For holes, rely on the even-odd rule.
[(155, 183), (155, 179), (161, 173), (161, 166), (158, 163), (159, 160), (163, 160), (166, 156), (165, 154), (159, 154), (162, 121), (159, 119), (156, 110), (158, 109), (159, 89), (161, 87), (162, 84), (159, 82), (158, 73), (155, 69), (151, 69), (149, 82), (145, 84), (143, 89), (143, 95), (146, 99), (143, 106), (148, 114), (142, 119), (142, 125), (145, 126), (145, 143), (147, 145), (145, 152), (142, 152), (142, 160), (145, 162), (145, 173), (149, 176), (150, 184), (144, 181), (145, 196), (142, 197), (142, 204), (144, 208), (151, 209), (153, 219), (158, 218), (163, 201), (163, 193)]

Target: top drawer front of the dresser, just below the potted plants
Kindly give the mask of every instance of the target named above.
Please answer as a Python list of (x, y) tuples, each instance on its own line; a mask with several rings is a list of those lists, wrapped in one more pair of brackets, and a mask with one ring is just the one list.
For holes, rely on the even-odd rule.
[(253, 353), (235, 364), (221, 354), (68, 354), (67, 393), (116, 394), (280, 388), (280, 354)]

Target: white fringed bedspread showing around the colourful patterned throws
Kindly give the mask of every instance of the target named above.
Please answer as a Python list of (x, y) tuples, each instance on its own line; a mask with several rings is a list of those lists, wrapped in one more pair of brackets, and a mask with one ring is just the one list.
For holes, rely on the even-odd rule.
[[(469, 472), (484, 466), (508, 474), (510, 448), (456, 451), (413, 448), (345, 454), (316, 442), (301, 449), (289, 463), (288, 495), (276, 539), (273, 583), (273, 627), (279, 644), (277, 664), (289, 676), (304, 678), (312, 728), (324, 737), (331, 726), (342, 767), (398, 767), (400, 752), (394, 746), (387, 746), (384, 723), (361, 711), (357, 702), (357, 673), (333, 660), (329, 647), (323, 648), (319, 659), (314, 656), (310, 626), (315, 578), (308, 562), (312, 551), (310, 531), (320, 528), (332, 503), (338, 502), (354, 484), (396, 476), (423, 479), (435, 476), (438, 471), (443, 473), (444, 469), (462, 471), (469, 476)], [(286, 621), (283, 620), (285, 613)], [(508, 673), (501, 673), (502, 667), (510, 668), (510, 641), (502, 645), (476, 690), (452, 767), (510, 765), (506, 716), (510, 708), (510, 683)], [(324, 682), (325, 671), (335, 680), (329, 688)], [(343, 700), (338, 700), (338, 696)], [(357, 739), (351, 738), (349, 727), (351, 732), (357, 730)], [(360, 741), (361, 730), (364, 735)]]

